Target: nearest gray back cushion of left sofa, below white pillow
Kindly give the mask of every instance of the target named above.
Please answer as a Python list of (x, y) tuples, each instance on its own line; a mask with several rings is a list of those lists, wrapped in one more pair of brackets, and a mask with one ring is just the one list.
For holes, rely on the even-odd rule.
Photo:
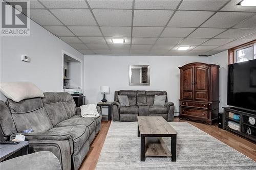
[(41, 98), (25, 99), (20, 102), (8, 99), (6, 103), (17, 132), (22, 133), (28, 129), (32, 129), (32, 132), (44, 132), (53, 128)]

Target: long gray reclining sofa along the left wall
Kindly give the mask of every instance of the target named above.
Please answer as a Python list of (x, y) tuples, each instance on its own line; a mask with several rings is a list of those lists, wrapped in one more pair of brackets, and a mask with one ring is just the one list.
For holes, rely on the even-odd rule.
[[(83, 118), (67, 92), (45, 92), (44, 98), (20, 102), (1, 101), (1, 131), (5, 138), (23, 134), (29, 141), (29, 153), (50, 151), (62, 169), (78, 169), (100, 130), (99, 117)], [(23, 133), (32, 129), (31, 133)]]

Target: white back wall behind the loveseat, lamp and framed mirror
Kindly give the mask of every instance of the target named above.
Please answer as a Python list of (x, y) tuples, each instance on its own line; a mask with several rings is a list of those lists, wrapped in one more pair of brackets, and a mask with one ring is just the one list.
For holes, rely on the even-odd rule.
[[(208, 63), (208, 57), (183, 56), (84, 56), (84, 80), (87, 104), (103, 98), (100, 86), (110, 87), (106, 99), (114, 101), (115, 90), (164, 90), (168, 101), (179, 112), (180, 66), (191, 62)], [(150, 65), (150, 86), (129, 86), (129, 65)]]

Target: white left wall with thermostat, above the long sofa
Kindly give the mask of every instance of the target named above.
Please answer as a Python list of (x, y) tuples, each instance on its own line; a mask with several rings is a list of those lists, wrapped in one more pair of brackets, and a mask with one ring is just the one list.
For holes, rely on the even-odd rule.
[[(83, 55), (32, 20), (30, 30), (30, 36), (1, 36), (0, 81), (31, 81), (42, 91), (62, 91), (62, 50), (82, 61)], [(20, 60), (22, 55), (31, 62)]]

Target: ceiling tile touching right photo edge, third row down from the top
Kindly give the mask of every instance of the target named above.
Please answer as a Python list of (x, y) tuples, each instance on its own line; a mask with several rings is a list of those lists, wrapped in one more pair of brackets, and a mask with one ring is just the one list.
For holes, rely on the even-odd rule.
[(243, 36), (249, 35), (253, 32), (256, 32), (256, 29), (229, 29), (220, 35), (216, 36), (215, 38), (232, 38), (238, 39)]

